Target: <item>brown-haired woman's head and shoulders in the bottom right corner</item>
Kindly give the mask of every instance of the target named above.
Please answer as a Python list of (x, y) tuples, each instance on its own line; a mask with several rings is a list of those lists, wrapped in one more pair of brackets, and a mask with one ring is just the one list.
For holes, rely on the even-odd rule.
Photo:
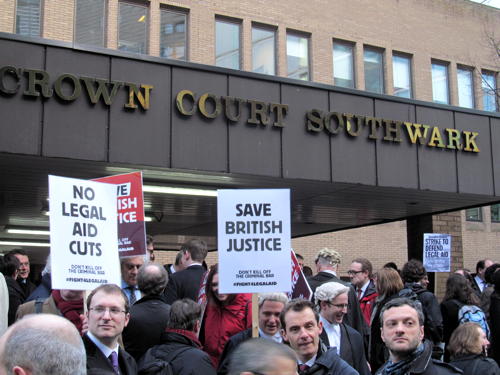
[(462, 370), (464, 375), (500, 375), (495, 361), (483, 355), (488, 345), (480, 325), (472, 322), (461, 324), (453, 331), (448, 345), (450, 364)]

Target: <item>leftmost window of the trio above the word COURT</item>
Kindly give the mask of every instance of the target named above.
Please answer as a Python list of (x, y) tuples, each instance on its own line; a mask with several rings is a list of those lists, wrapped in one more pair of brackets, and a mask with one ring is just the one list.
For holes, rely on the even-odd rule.
[(215, 65), (240, 69), (240, 24), (215, 21)]

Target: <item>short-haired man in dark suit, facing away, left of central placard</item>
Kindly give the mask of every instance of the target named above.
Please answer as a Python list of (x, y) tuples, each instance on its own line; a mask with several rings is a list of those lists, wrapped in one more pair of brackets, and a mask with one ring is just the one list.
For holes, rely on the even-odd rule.
[(168, 281), (165, 300), (169, 305), (182, 298), (197, 301), (201, 280), (206, 271), (202, 266), (207, 256), (205, 241), (190, 240), (181, 246), (181, 251), (180, 263), (186, 269), (174, 273)]

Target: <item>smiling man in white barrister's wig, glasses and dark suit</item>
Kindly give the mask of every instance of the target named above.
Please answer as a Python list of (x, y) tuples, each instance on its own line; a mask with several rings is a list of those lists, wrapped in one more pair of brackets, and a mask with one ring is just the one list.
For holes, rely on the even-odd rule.
[(347, 313), (348, 292), (349, 287), (337, 282), (325, 283), (316, 288), (315, 299), (323, 324), (320, 338), (328, 347), (336, 347), (340, 358), (360, 375), (370, 375), (363, 338), (358, 331), (343, 323)]

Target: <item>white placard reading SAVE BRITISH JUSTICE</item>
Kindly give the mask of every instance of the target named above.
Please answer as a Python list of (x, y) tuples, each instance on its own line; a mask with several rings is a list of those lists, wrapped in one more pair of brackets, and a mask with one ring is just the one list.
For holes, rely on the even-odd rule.
[(289, 292), (290, 190), (217, 193), (219, 291)]

